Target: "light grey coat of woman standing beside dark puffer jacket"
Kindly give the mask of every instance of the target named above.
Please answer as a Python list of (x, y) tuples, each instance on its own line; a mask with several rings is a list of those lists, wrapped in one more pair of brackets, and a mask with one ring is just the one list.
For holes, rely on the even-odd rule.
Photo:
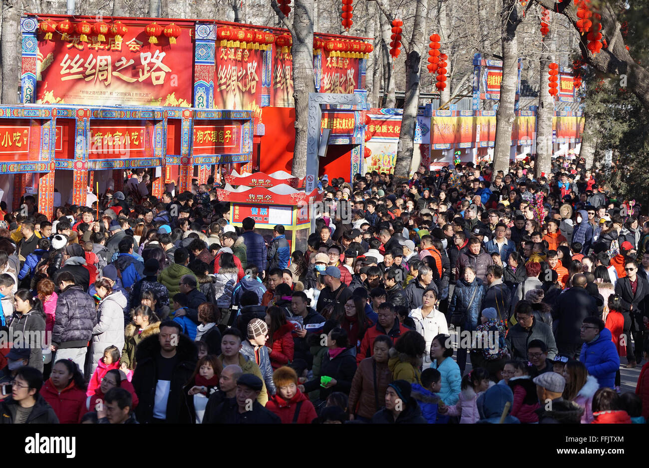
[(92, 329), (93, 371), (103, 357), (104, 349), (114, 345), (121, 352), (124, 347), (124, 307), (126, 298), (121, 291), (113, 291), (99, 303), (99, 322)]

